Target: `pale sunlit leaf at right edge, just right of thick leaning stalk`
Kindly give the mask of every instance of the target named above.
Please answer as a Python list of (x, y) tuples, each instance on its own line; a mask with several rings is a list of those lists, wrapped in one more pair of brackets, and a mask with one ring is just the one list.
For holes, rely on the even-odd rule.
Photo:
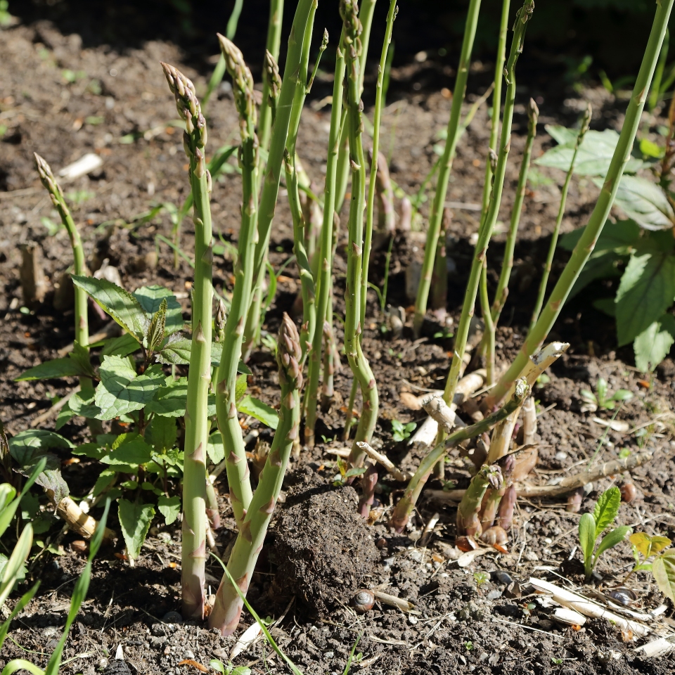
[[(601, 186), (602, 181), (594, 182)], [(675, 213), (664, 191), (639, 176), (622, 176), (614, 203), (645, 230), (671, 229), (675, 224)]]

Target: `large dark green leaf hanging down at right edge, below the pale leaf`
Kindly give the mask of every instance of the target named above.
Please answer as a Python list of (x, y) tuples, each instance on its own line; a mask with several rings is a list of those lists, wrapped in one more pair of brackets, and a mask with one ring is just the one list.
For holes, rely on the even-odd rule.
[(633, 342), (658, 321), (675, 297), (675, 256), (644, 250), (631, 255), (617, 291), (619, 346)]

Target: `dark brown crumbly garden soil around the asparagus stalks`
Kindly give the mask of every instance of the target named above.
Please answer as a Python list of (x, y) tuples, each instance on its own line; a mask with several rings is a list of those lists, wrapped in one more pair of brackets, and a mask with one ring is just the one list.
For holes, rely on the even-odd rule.
[[(142, 49), (116, 53), (105, 47), (87, 47), (77, 34), (66, 37), (49, 24), (15, 27), (0, 31), (0, 122), (7, 130), (0, 143), (0, 415), (10, 433), (28, 428), (38, 413), (51, 405), (51, 397), (63, 396), (74, 385), (65, 380), (44, 383), (15, 383), (25, 368), (56, 356), (56, 350), (72, 342), (72, 309), (55, 311), (53, 293), (71, 262), (68, 238), (61, 231), (48, 236), (41, 219), (58, 221), (44, 194), (32, 165), (32, 153), (44, 155), (56, 170), (77, 160), (84, 153), (96, 152), (103, 167), (93, 176), (77, 179), (65, 186), (79, 191), (75, 219), (80, 226), (88, 264), (92, 271), (107, 258), (117, 266), (126, 288), (160, 283), (182, 297), (188, 318), (188, 288), (191, 268), (179, 260), (173, 266), (173, 252), (157, 235), (170, 237), (166, 214), (149, 222), (134, 219), (156, 203), (181, 203), (186, 196), (185, 158), (179, 134), (167, 122), (175, 116), (174, 104), (159, 68), (160, 60), (179, 67), (181, 53), (170, 44), (150, 42)], [(64, 70), (76, 75), (68, 83)], [(476, 68), (475, 70), (480, 70)], [(203, 90), (203, 74), (185, 68)], [(82, 75), (84, 73), (84, 75)], [(394, 77), (410, 77), (404, 69)], [(94, 84), (94, 80), (98, 85)], [(560, 92), (551, 83), (551, 100)], [(100, 93), (99, 93), (100, 92)], [(470, 95), (474, 96), (476, 92)], [(480, 93), (480, 92), (479, 92)], [(541, 98), (541, 122), (570, 124), (580, 109), (580, 98), (570, 94), (563, 108), (548, 108), (548, 91), (521, 91), (515, 116), (512, 156), (518, 158), (525, 132), (525, 102), (532, 94)], [(615, 101), (604, 90), (584, 91), (593, 102), (598, 128), (614, 126), (622, 120), (624, 103)], [(391, 103), (383, 116), (383, 147), (387, 153), (395, 135), (391, 157), (392, 178), (406, 193), (413, 194), (435, 160), (432, 147), (435, 134), (449, 115), (449, 101), (442, 93), (410, 94)], [(321, 183), (325, 170), (329, 113), (307, 108), (301, 124), (298, 150), (312, 179)], [(238, 124), (231, 95), (223, 90), (209, 109), (210, 148), (236, 142)], [(655, 120), (648, 118), (648, 123)], [(479, 111), (475, 122), (458, 148), (448, 199), (454, 203), (449, 251), (455, 273), (449, 280), (449, 312), (456, 319), (463, 297), (465, 272), (470, 263), (470, 237), (477, 231), (475, 210), (480, 203), (486, 150), (487, 112)], [(128, 142), (127, 141), (131, 141)], [(543, 127), (536, 139), (535, 155), (550, 143)], [(501, 220), (508, 221), (518, 163), (510, 165)], [(518, 244), (513, 292), (499, 329), (499, 364), (513, 358), (522, 342), (522, 326), (529, 321), (532, 301), (541, 271), (541, 260), (548, 248), (558, 209), (560, 176), (539, 169), (539, 181), (528, 193)], [(274, 224), (270, 259), (278, 268), (291, 254), (292, 231), (285, 192)], [(590, 182), (573, 181), (568, 198), (563, 231), (584, 224), (596, 188)], [(214, 229), (223, 238), (236, 242), (240, 180), (236, 173), (225, 174), (214, 184)], [(468, 208), (469, 207), (469, 208)], [(428, 214), (428, 203), (423, 206)], [(344, 214), (343, 214), (344, 215)], [(193, 231), (189, 219), (184, 224), (183, 249), (190, 255)], [(20, 243), (37, 241), (44, 255), (48, 293), (43, 303), (25, 313), (19, 283)], [(422, 243), (417, 233), (399, 236), (395, 242), (390, 276), (389, 301), (408, 307), (405, 269), (418, 255)], [(491, 245), (490, 284), (494, 289), (503, 247), (503, 228)], [(416, 250), (417, 249), (417, 250)], [(153, 251), (157, 252), (154, 259)], [(553, 276), (565, 257), (558, 256)], [(371, 281), (381, 284), (383, 253), (371, 262)], [(336, 314), (344, 309), (340, 299), (344, 284), (345, 260), (338, 256)], [(297, 271), (289, 266), (281, 278), (276, 300), (266, 328), (274, 332), (282, 311), (290, 311), (298, 290)], [(217, 257), (214, 284), (222, 292), (231, 290), (231, 260)], [(597, 288), (596, 288), (597, 290)], [(638, 497), (622, 506), (620, 522), (653, 534), (675, 538), (675, 484), (670, 411), (675, 403), (675, 366), (667, 359), (653, 378), (642, 380), (633, 366), (629, 348), (615, 348), (615, 327), (610, 319), (591, 307), (592, 293), (577, 297), (560, 316), (552, 339), (571, 343), (569, 352), (555, 364), (551, 382), (536, 390), (539, 399), (539, 465), (533, 481), (541, 483), (559, 477), (588, 463), (598, 448), (603, 459), (615, 458), (627, 448), (657, 449), (655, 461), (631, 472)], [(414, 387), (442, 387), (449, 368), (451, 342), (434, 337), (432, 322), (421, 340), (411, 340), (409, 327), (403, 338), (383, 337), (381, 316), (374, 294), (369, 297), (368, 325), (364, 350), (371, 359), (380, 390), (380, 418), (375, 436), (387, 454), (402, 469), (415, 468), (422, 451), (392, 440), (392, 420), (420, 422), (423, 415), (406, 409), (399, 394)], [(91, 320), (94, 321), (92, 314)], [(339, 322), (336, 322), (339, 323)], [(94, 330), (98, 326), (93, 326)], [(338, 340), (342, 338), (338, 330)], [(252, 393), (278, 402), (276, 366), (271, 354), (260, 349), (251, 359)], [(561, 628), (548, 618), (548, 611), (529, 594), (530, 575), (560, 579), (559, 574), (578, 581), (574, 570), (562, 567), (575, 546), (578, 515), (567, 513), (563, 503), (521, 500), (509, 550), (489, 553), (473, 565), (459, 568), (442, 557), (439, 541), (454, 540), (455, 510), (423, 499), (411, 527), (402, 536), (392, 535), (385, 525), (386, 514), (372, 526), (354, 515), (356, 492), (352, 487), (333, 487), (338, 473), (330, 451), (342, 446), (338, 440), (344, 424), (340, 397), (346, 401), (351, 385), (349, 368), (342, 365), (336, 378), (338, 403), (324, 415), (317, 428), (322, 439), (316, 449), (300, 461), (285, 484), (285, 505), (274, 521), (269, 546), (260, 560), (249, 598), (263, 616), (283, 619), (272, 629), (285, 653), (307, 675), (341, 673), (349, 650), (360, 636), (356, 653), (361, 653), (352, 672), (406, 675), (458, 671), (475, 673), (541, 673), (553, 675), (666, 673), (673, 668), (671, 657), (642, 660), (636, 656), (636, 643), (623, 643), (618, 629), (605, 622), (589, 622), (581, 631)], [(617, 416), (631, 428), (645, 428), (646, 436), (610, 431), (593, 418), (609, 419), (608, 411), (581, 412), (580, 390), (593, 388), (599, 375), (608, 380), (610, 390), (621, 387), (634, 393)], [(53, 428), (53, 420), (45, 423)], [(63, 433), (74, 440), (84, 429), (72, 423)], [(266, 432), (262, 432), (266, 435)], [(65, 456), (64, 456), (65, 458)], [(454, 456), (446, 478), (458, 487), (468, 483), (470, 473), (464, 459)], [(73, 494), (84, 495), (96, 479), (96, 466), (84, 461), (64, 469)], [(593, 484), (582, 510), (591, 508), (600, 491), (620, 477)], [(295, 483), (294, 483), (295, 481)], [(226, 494), (221, 482), (217, 487)], [(440, 487), (440, 484), (431, 484)], [(378, 500), (389, 508), (397, 498), (399, 484), (384, 476), (378, 486)], [(429, 518), (439, 512), (439, 525), (428, 548), (415, 544)], [(221, 503), (224, 527), (218, 544), (222, 551), (236, 532), (231, 509)], [(96, 515), (96, 514), (95, 514)], [(117, 523), (112, 518), (112, 525)], [(10, 638), (0, 655), (0, 666), (13, 658), (29, 658), (44, 667), (60, 636), (68, 612), (72, 584), (84, 566), (84, 559), (70, 549), (72, 534), (58, 536), (53, 527), (53, 544), (63, 546), (63, 555), (45, 553), (30, 566), (30, 579), (41, 579), (41, 589), (12, 626)], [(409, 537), (409, 535), (411, 535)], [(49, 536), (45, 534), (44, 536)], [(54, 541), (56, 539), (56, 541)], [(273, 546), (274, 544), (274, 546)], [(118, 544), (117, 552), (121, 550)], [(73, 626), (65, 650), (64, 674), (94, 674), (112, 667), (118, 645), (131, 672), (166, 675), (195, 672), (184, 659), (208, 664), (211, 658), (227, 662), (236, 637), (221, 638), (204, 625), (186, 624), (176, 612), (179, 604), (180, 533), (179, 528), (157, 526), (150, 532), (136, 567), (130, 568), (115, 550), (101, 551), (94, 563), (88, 599)], [(576, 553), (577, 557), (579, 553)], [(605, 555), (598, 572), (604, 586), (612, 586), (631, 565), (629, 547), (619, 546)], [(492, 574), (477, 584), (475, 572), (507, 572), (520, 581), (520, 597), (505, 593), (506, 577)], [(207, 579), (214, 590), (219, 583), (219, 567), (210, 567)], [(480, 579), (480, 577), (479, 577)], [(506, 579), (508, 581), (508, 579)], [(378, 587), (395, 596), (411, 600), (415, 612), (406, 615), (389, 605), (375, 604), (373, 610), (358, 615), (349, 600), (359, 586)], [(23, 586), (22, 586), (23, 588)], [(660, 594), (641, 577), (638, 608), (654, 608)], [(290, 605), (289, 596), (295, 596)], [(534, 607), (530, 608), (530, 603)], [(288, 610), (288, 611), (285, 611)], [(669, 608), (667, 616), (672, 614)], [(242, 629), (250, 625), (245, 615)], [(31, 650), (26, 653), (25, 650)], [(614, 659), (610, 652), (619, 654)], [(560, 661), (562, 660), (562, 661)], [(258, 641), (240, 657), (237, 664), (250, 664), (256, 673), (283, 672), (285, 665), (264, 641)], [(112, 670), (108, 670), (112, 672)]]

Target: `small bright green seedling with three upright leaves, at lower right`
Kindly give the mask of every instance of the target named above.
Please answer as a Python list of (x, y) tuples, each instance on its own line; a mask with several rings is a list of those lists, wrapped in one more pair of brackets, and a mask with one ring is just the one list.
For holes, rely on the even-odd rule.
[(596, 540), (616, 520), (621, 504), (621, 492), (618, 487), (610, 487), (603, 492), (596, 503), (593, 513), (584, 513), (579, 520), (579, 546), (584, 553), (584, 572), (586, 581), (598, 564), (600, 555), (614, 548), (619, 542), (624, 541), (632, 530), (627, 525), (621, 525), (610, 530), (596, 551)]

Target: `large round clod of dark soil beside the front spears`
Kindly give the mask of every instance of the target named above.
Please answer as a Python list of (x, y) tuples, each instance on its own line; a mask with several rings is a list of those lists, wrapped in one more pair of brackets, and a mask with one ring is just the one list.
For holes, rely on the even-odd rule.
[(295, 595), (326, 616), (367, 586), (380, 555), (372, 529), (356, 513), (359, 498), (353, 487), (326, 484), (309, 467), (290, 478), (295, 484), (276, 529), (274, 591)]

